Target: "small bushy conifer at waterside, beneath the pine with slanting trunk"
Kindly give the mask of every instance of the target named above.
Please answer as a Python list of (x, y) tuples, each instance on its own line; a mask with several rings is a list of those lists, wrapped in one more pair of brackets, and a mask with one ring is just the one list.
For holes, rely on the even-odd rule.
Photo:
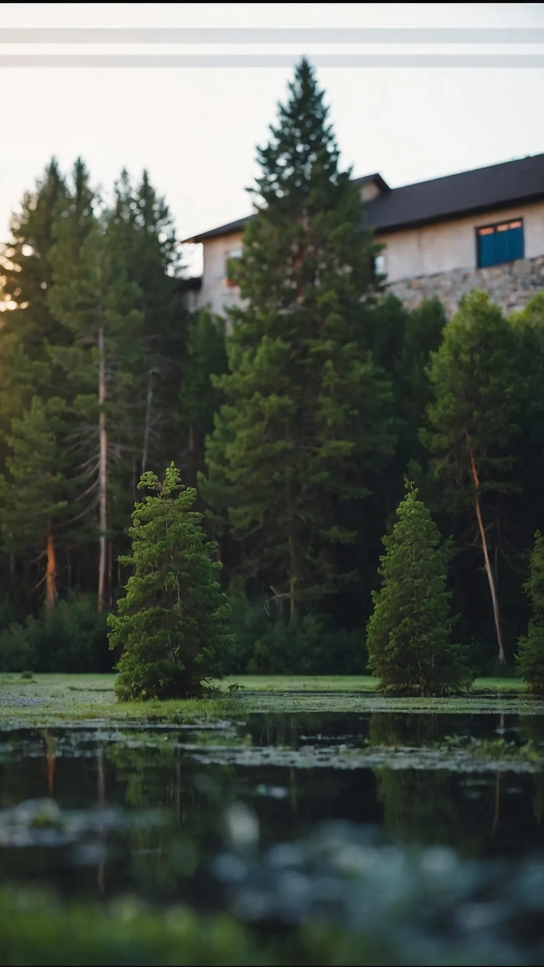
[(446, 587), (449, 549), (417, 490), (409, 489), (398, 509), (373, 592), (367, 630), (369, 667), (382, 688), (393, 693), (442, 695), (463, 689), (468, 670), (462, 649), (451, 642), (450, 592)]

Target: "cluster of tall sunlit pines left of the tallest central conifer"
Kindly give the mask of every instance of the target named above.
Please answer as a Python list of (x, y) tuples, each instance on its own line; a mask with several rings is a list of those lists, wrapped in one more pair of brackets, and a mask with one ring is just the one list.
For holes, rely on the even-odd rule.
[[(47, 626), (31, 620), (26, 634), (37, 667), (71, 668), (79, 653), (87, 667), (89, 648), (109, 667), (106, 622), (95, 615), (128, 576), (117, 559), (136, 483), (171, 454), (195, 479), (215, 408), (209, 373), (226, 366), (223, 330), (184, 308), (172, 221), (145, 172), (134, 185), (123, 171), (108, 205), (82, 161), (70, 178), (51, 161), (11, 228), (0, 329), (2, 624), (45, 611)], [(59, 642), (55, 659), (48, 641), (59, 639), (65, 600), (70, 656)], [(21, 635), (3, 632), (8, 664)], [(96, 647), (83, 643), (89, 635)]]

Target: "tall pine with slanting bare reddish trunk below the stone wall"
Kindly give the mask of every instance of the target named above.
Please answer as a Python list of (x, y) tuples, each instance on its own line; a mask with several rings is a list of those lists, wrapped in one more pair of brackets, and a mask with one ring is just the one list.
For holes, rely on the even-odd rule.
[[(489, 301), (472, 292), (444, 329), (432, 354), (429, 378), (433, 401), (427, 413), (431, 431), (422, 440), (434, 457), (449, 513), (471, 510), (491, 594), (499, 662), (506, 661), (499, 617), (492, 535), (498, 541), (499, 496), (514, 492), (512, 440), (519, 432), (523, 386), (517, 366), (518, 343), (510, 323)], [(471, 537), (473, 541), (473, 537)]]

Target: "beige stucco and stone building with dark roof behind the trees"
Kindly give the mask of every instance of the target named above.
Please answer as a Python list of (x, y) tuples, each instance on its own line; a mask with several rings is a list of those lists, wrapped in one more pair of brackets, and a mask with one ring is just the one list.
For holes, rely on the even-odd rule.
[[(506, 312), (544, 289), (544, 155), (391, 189), (380, 175), (356, 180), (362, 225), (384, 246), (378, 272), (408, 308), (438, 296), (449, 316), (472, 288)], [(203, 232), (196, 308), (221, 313), (239, 303), (227, 260), (239, 256), (255, 216)]]

